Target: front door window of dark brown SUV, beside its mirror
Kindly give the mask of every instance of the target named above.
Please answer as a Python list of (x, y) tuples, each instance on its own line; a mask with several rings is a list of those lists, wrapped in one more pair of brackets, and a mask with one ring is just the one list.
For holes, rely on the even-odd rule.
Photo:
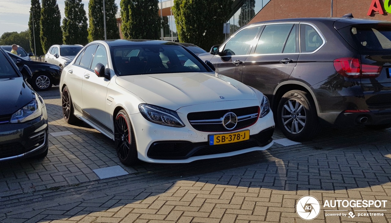
[(260, 29), (260, 25), (242, 29), (235, 36), (233, 36), (224, 47), (224, 54), (227, 56), (246, 55), (253, 44), (256, 34)]

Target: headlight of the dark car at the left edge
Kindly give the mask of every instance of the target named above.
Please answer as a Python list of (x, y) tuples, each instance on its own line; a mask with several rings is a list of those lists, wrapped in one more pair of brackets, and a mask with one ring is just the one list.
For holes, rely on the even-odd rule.
[(41, 103), (41, 99), (36, 95), (36, 99), (30, 101), (23, 106), (23, 108), (13, 113), (10, 123), (27, 122), (38, 118), (42, 115), (42, 107), (43, 103)]

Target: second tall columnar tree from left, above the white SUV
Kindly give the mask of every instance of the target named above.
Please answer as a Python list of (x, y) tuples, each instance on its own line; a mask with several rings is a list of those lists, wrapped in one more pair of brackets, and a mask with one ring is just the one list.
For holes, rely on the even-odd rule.
[(61, 14), (56, 0), (42, 0), (40, 24), (43, 53), (46, 53), (52, 45), (63, 44)]

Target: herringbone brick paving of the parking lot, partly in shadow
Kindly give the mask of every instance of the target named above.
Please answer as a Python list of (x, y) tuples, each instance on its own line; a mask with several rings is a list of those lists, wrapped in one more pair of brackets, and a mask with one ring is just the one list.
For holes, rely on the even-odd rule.
[[(58, 87), (40, 94), (50, 133), (57, 135), (49, 135), (46, 158), (0, 164), (1, 223), (303, 222), (295, 206), (304, 195), (321, 203), (311, 222), (391, 221), (391, 130), (325, 128), (304, 144), (125, 167), (103, 134), (64, 122)], [(281, 138), (276, 130), (274, 139)], [(100, 179), (94, 172), (117, 165), (129, 174)], [(323, 208), (326, 200), (387, 202), (381, 208)], [(383, 216), (359, 216), (370, 212)]]

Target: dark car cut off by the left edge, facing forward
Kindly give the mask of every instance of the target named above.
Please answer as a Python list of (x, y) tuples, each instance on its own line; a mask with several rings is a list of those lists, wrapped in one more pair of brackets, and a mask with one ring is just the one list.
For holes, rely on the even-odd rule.
[(30, 75), (0, 49), (0, 161), (48, 153), (46, 106), (25, 82)]

